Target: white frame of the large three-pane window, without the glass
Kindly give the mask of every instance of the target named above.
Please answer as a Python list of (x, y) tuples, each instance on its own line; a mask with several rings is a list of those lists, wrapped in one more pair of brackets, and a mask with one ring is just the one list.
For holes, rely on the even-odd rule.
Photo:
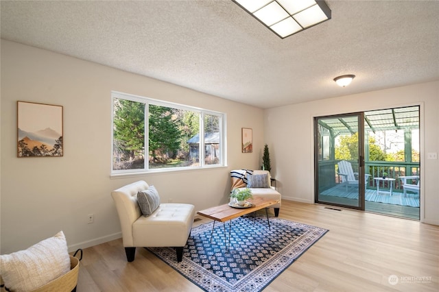
[[(144, 150), (144, 167), (143, 169), (113, 169), (113, 155), (114, 155), (114, 147), (115, 147), (115, 137), (114, 137), (114, 123), (115, 123), (115, 99), (126, 99), (129, 101), (139, 102), (144, 104), (145, 106), (145, 150)], [(197, 112), (200, 116), (200, 145), (199, 145), (199, 153), (198, 157), (200, 160), (200, 165), (196, 167), (165, 167), (159, 169), (150, 169), (149, 165), (149, 106), (163, 106), (166, 108), (176, 108), (178, 110), (188, 110), (191, 112)], [(209, 114), (219, 118), (219, 163), (215, 165), (209, 165), (204, 162), (204, 115)], [(159, 172), (173, 172), (173, 171), (191, 171), (195, 169), (211, 169), (211, 168), (219, 168), (226, 167), (226, 113), (217, 112), (214, 110), (206, 110), (204, 108), (198, 108), (194, 106), (187, 106), (184, 104), (176, 104), (171, 101), (163, 101), (160, 99), (152, 99), (150, 97), (141, 97), (139, 95), (131, 95), (128, 93), (121, 93), (118, 91), (111, 91), (111, 163), (110, 163), (110, 173), (111, 176), (119, 176), (119, 175), (136, 175), (136, 174), (144, 174), (144, 173), (159, 173)]]

